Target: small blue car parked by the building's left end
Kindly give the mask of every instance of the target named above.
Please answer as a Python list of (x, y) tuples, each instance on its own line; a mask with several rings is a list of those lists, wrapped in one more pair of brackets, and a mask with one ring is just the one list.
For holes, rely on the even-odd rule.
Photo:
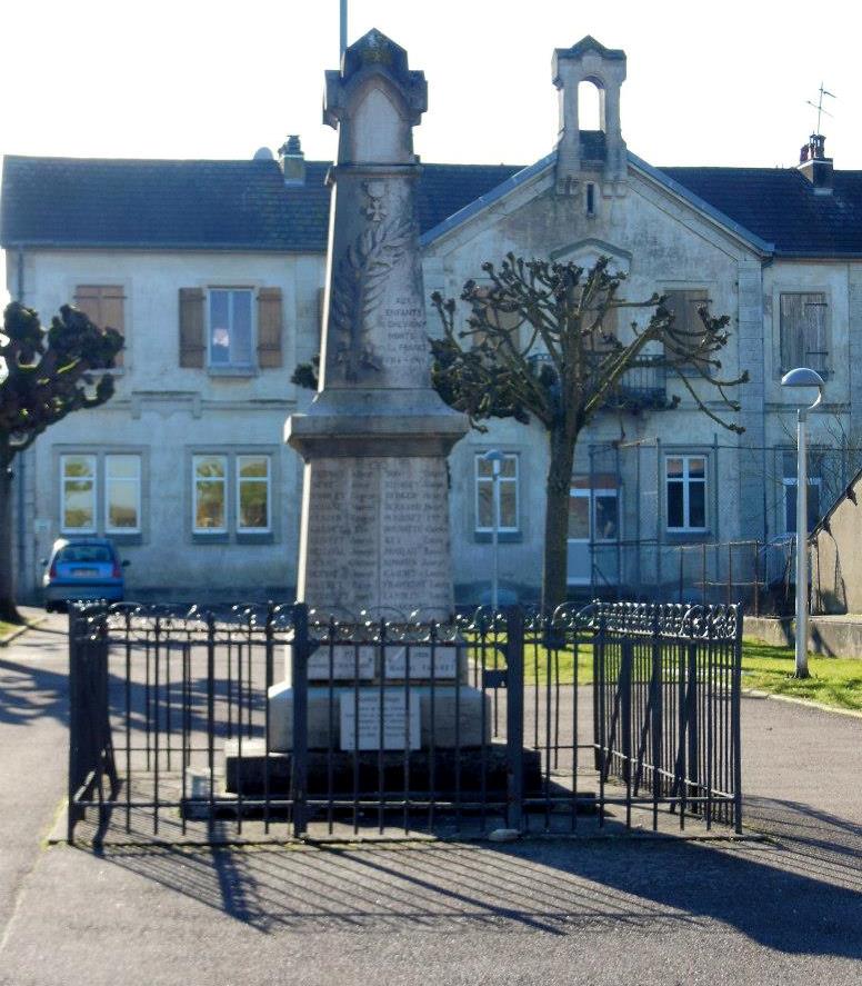
[(126, 591), (117, 548), (108, 538), (60, 538), (46, 559), (42, 576), (44, 608), (66, 607), (71, 599), (107, 599), (120, 602)]

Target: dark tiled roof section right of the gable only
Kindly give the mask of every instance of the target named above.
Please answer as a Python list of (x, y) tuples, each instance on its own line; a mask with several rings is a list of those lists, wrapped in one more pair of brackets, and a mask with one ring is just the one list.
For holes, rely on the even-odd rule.
[(795, 168), (662, 168), (784, 256), (862, 255), (862, 171), (835, 171), (815, 195)]

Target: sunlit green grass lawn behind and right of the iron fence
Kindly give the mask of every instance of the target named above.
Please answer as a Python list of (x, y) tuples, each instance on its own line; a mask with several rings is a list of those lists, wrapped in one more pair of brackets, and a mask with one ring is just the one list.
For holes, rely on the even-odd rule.
[[(548, 681), (548, 655), (528, 648), (524, 678), (529, 685)], [(560, 684), (573, 680), (573, 656), (559, 654)], [(490, 661), (489, 661), (490, 665)], [(809, 655), (810, 678), (793, 677), (795, 666), (791, 647), (773, 647), (760, 640), (742, 645), (742, 687), (775, 695), (790, 695), (842, 709), (862, 710), (862, 660)], [(592, 647), (583, 646), (578, 655), (578, 683), (592, 684)], [(557, 675), (553, 676), (554, 678)]]

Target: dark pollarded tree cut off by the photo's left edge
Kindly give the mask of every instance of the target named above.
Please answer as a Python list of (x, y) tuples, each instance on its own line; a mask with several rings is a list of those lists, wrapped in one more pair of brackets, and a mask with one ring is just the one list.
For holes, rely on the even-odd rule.
[(12, 562), (12, 461), (51, 425), (113, 395), (110, 369), (122, 336), (63, 305), (46, 331), (18, 301), (3, 313), (0, 357), (0, 619), (20, 623)]

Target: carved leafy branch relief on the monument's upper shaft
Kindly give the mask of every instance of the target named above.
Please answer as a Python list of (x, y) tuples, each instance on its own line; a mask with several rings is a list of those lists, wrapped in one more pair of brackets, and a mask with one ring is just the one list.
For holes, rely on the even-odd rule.
[(380, 370), (369, 341), (371, 316), (380, 306), (387, 277), (404, 257), (413, 221), (403, 216), (375, 222), (363, 230), (341, 258), (332, 287), (330, 327), (338, 333), (335, 362), (347, 380), (361, 370)]

